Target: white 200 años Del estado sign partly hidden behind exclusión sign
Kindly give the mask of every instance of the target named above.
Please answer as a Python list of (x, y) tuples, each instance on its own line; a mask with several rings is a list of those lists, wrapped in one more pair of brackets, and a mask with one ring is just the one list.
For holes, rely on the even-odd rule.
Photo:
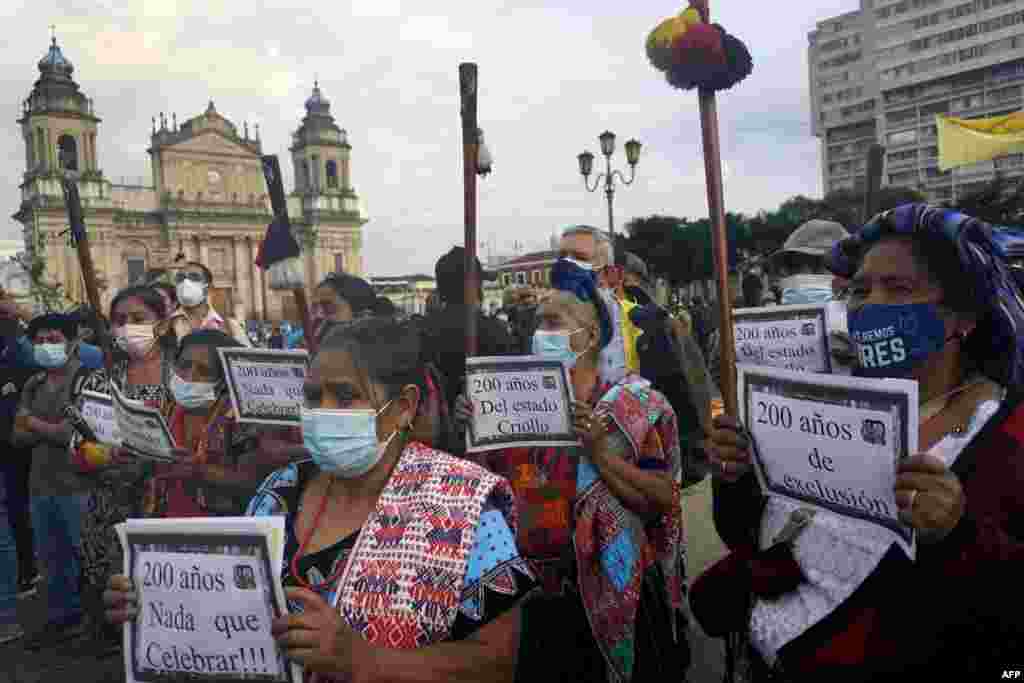
[(824, 304), (733, 311), (736, 362), (830, 373), (828, 317), (836, 312)]

